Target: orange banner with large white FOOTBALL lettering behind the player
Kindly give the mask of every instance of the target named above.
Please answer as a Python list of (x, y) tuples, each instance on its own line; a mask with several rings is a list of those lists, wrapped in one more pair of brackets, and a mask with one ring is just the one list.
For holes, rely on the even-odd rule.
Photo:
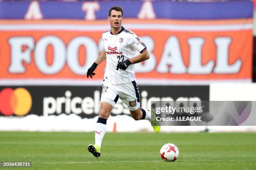
[[(140, 84), (250, 82), (252, 20), (124, 20), (150, 59), (136, 64)], [(87, 69), (103, 49), (108, 21), (0, 20), (0, 84), (100, 85)], [(152, 81), (156, 80), (156, 81)]]

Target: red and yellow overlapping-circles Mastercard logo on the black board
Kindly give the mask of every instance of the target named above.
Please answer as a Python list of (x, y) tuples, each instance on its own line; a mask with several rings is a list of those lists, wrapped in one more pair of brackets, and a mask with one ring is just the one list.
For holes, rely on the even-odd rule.
[(0, 112), (5, 116), (28, 114), (32, 107), (31, 94), (25, 88), (4, 88), (0, 91)]

